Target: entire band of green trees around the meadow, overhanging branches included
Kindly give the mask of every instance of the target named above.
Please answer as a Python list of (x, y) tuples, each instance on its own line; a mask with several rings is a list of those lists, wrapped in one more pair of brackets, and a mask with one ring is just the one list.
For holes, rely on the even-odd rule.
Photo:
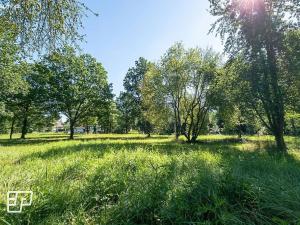
[(300, 3), (209, 2), (217, 17), (211, 32), (225, 55), (175, 43), (158, 62), (139, 58), (115, 97), (101, 63), (72, 46), (81, 39), (84, 4), (0, 1), (1, 131), (25, 138), (63, 114), (71, 139), (80, 124), (174, 133), (188, 142), (208, 132), (261, 132), (285, 152), (284, 135), (299, 135)]

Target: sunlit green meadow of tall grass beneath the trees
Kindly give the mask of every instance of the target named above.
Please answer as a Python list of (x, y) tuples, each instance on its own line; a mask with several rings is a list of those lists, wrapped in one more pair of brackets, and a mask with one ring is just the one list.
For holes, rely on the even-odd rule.
[[(300, 224), (300, 138), (0, 136), (0, 224)], [(21, 214), (6, 193), (32, 190)]]

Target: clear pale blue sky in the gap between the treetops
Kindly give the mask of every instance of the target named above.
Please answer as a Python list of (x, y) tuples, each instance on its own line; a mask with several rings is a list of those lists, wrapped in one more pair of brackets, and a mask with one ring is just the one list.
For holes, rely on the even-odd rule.
[(123, 78), (134, 61), (158, 61), (175, 42), (186, 47), (213, 47), (221, 41), (208, 35), (215, 18), (208, 0), (84, 0), (99, 16), (84, 19), (82, 49), (105, 67), (114, 94), (123, 90)]

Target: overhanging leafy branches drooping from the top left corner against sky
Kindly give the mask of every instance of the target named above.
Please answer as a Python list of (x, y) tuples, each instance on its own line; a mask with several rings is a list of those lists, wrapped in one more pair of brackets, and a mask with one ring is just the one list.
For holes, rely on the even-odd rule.
[(87, 10), (78, 0), (0, 0), (0, 24), (14, 32), (24, 53), (42, 52), (81, 40), (79, 29)]

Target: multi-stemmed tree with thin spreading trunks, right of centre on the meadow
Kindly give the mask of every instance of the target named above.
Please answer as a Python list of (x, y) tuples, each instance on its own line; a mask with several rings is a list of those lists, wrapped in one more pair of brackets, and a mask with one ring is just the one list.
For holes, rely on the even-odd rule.
[(173, 45), (162, 58), (160, 70), (173, 109), (176, 139), (183, 134), (195, 142), (204, 128), (218, 60), (212, 50), (185, 50), (182, 43)]

